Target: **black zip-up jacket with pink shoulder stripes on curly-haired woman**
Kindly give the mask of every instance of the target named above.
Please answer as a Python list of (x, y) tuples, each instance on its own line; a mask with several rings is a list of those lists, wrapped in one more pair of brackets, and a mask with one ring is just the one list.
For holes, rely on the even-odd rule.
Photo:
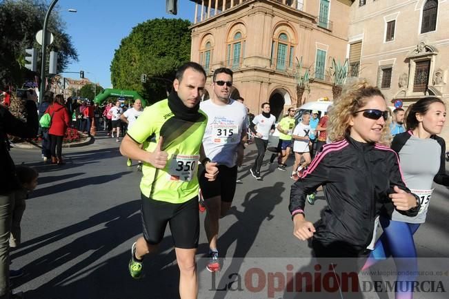
[[(408, 193), (401, 178), (397, 154), (386, 146), (357, 142), (348, 137), (323, 146), (303, 176), (292, 185), (290, 213), (303, 210), (306, 195), (324, 187), (328, 206), (315, 226), (314, 240), (327, 247), (346, 244), (354, 251), (366, 249), (374, 221), (381, 210), (391, 215), (389, 194), (398, 186)], [(416, 195), (415, 195), (416, 197)], [(404, 215), (417, 215), (419, 206)]]

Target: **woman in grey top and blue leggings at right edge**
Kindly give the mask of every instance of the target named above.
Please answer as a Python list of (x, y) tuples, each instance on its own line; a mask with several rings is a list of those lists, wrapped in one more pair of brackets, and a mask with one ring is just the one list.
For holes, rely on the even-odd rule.
[[(421, 200), (415, 217), (392, 213), (391, 219), (381, 215), (383, 234), (377, 240), (363, 270), (379, 260), (392, 256), (397, 267), (396, 299), (413, 298), (412, 284), (417, 280), (417, 250), (413, 234), (426, 220), (432, 195), (432, 182), (449, 186), (446, 175), (446, 144), (438, 137), (446, 121), (446, 106), (441, 99), (425, 97), (408, 108), (408, 131), (395, 135), (391, 148), (399, 155), (403, 180)], [(404, 273), (404, 274), (401, 274)]]

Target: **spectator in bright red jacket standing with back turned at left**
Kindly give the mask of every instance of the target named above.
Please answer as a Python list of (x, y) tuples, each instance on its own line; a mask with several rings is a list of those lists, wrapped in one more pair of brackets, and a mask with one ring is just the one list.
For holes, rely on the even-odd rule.
[(63, 105), (63, 95), (56, 95), (53, 103), (48, 106), (46, 113), (52, 117), (52, 124), (48, 133), (50, 134), (50, 151), (52, 153), (53, 164), (64, 164), (62, 161), (62, 139), (66, 134), (69, 126), (70, 116), (68, 115), (66, 107)]

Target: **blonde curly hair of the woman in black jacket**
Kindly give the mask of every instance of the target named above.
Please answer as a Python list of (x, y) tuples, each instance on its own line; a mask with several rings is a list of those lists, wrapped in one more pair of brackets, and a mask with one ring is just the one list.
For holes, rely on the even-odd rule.
[[(334, 100), (329, 111), (328, 137), (331, 142), (339, 142), (349, 136), (350, 117), (365, 106), (370, 97), (376, 95), (385, 99), (379, 88), (370, 85), (366, 79), (348, 78), (340, 97)], [(390, 123), (391, 117), (388, 117), (377, 143), (390, 146)]]

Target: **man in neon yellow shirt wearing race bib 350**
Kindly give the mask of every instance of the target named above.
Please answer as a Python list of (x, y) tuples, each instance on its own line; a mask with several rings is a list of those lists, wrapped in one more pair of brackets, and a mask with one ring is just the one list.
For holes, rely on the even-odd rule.
[(199, 102), (205, 84), (206, 73), (199, 64), (181, 66), (168, 99), (146, 108), (120, 146), (123, 155), (143, 162), (143, 237), (132, 244), (130, 274), (142, 277), (143, 256), (157, 249), (169, 223), (181, 274), (181, 299), (197, 298), (198, 162), (206, 166), (208, 180), (218, 173), (217, 164), (206, 158), (201, 145), (207, 117), (199, 110)]

